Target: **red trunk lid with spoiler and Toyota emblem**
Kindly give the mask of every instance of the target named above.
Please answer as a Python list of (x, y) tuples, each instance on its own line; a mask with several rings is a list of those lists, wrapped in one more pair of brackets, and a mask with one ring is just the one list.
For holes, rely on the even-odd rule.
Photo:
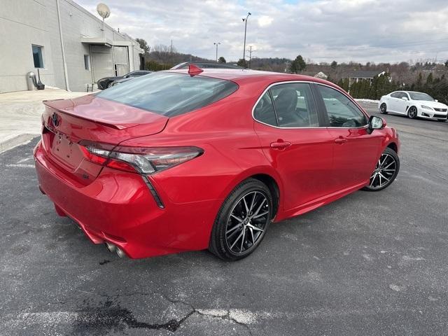
[(91, 183), (102, 166), (85, 160), (80, 141), (104, 144), (111, 149), (127, 139), (162, 132), (169, 119), (92, 94), (43, 104), (44, 151), (73, 183), (82, 185)]

